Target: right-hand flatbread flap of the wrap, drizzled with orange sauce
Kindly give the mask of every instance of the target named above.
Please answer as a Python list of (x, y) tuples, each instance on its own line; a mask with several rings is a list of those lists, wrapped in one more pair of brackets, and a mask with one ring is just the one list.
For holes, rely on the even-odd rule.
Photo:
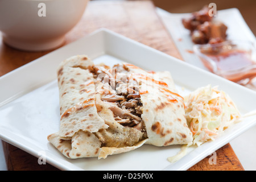
[(147, 144), (169, 146), (187, 144), (192, 133), (187, 126), (184, 99), (177, 94), (170, 72), (148, 73), (127, 64), (129, 71), (142, 82), (143, 114), (147, 131)]

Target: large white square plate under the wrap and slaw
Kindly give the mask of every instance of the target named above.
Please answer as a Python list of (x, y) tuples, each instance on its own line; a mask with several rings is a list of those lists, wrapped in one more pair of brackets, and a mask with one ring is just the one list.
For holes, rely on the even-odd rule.
[(180, 146), (142, 147), (106, 159), (67, 159), (47, 140), (59, 131), (59, 90), (56, 68), (64, 59), (86, 54), (96, 63), (120, 61), (152, 71), (170, 71), (181, 96), (208, 84), (218, 85), (236, 102), (242, 114), (256, 109), (256, 92), (184, 63), (153, 48), (101, 29), (0, 77), (0, 138), (28, 153), (46, 156), (62, 170), (185, 170), (254, 125), (256, 116), (237, 123), (213, 142), (197, 148), (176, 163), (167, 158)]

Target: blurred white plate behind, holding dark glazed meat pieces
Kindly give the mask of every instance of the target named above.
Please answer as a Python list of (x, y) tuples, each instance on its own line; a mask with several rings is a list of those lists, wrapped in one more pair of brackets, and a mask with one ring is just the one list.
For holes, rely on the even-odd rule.
[[(191, 13), (169, 13), (162, 9), (156, 9), (163, 20), (164, 25), (170, 32), (174, 43), (179, 50), (183, 60), (187, 63), (196, 65), (199, 68), (208, 70), (201, 62), (199, 56), (193, 53), (194, 43), (191, 40), (190, 31), (185, 29), (181, 20), (188, 18)], [(216, 20), (220, 20), (227, 27), (227, 39), (229, 40), (249, 40), (256, 44), (256, 38), (250, 30), (240, 11), (236, 8), (218, 10)]]

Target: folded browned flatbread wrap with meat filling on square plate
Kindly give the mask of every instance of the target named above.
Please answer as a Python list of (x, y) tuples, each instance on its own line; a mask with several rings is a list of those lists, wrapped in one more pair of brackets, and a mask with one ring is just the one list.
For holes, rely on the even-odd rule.
[(110, 68), (78, 55), (57, 68), (60, 130), (48, 140), (67, 158), (192, 142), (184, 101), (169, 72), (122, 63)]

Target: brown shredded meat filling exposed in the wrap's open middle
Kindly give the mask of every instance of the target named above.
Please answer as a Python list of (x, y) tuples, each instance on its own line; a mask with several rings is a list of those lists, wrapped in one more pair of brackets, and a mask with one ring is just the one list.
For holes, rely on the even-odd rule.
[(144, 122), (141, 119), (143, 106), (139, 95), (139, 83), (129, 80), (125, 65), (114, 65), (113, 69), (101, 66), (89, 68), (94, 78), (103, 84), (101, 86), (101, 100), (109, 105), (115, 121), (123, 126), (145, 132)]

